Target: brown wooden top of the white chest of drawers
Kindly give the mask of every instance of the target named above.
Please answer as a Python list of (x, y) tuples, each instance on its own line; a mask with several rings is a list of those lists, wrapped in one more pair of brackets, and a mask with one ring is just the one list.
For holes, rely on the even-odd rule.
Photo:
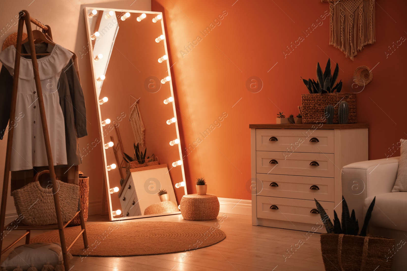
[(367, 123), (348, 123), (348, 124), (249, 124), (252, 129), (360, 129), (369, 128)]

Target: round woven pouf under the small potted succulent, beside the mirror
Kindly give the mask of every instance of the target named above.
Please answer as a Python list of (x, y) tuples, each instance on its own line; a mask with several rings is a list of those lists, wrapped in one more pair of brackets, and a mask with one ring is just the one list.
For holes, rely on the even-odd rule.
[(212, 220), (219, 215), (219, 200), (216, 195), (184, 195), (180, 204), (181, 215), (186, 220)]

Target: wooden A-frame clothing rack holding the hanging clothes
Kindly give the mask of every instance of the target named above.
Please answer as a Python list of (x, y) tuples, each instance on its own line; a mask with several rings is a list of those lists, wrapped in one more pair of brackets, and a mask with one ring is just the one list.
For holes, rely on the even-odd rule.
[[(79, 211), (76, 213), (76, 215), (79, 214), (79, 217), (81, 220), (81, 231), (79, 232), (77, 237), (74, 239), (74, 241), (68, 247), (66, 246), (64, 229), (66, 228), (66, 226), (68, 226), (70, 221), (68, 221), (66, 223), (63, 223), (63, 221), (62, 221), (61, 207), (59, 205), (59, 197), (58, 197), (58, 185), (57, 185), (57, 181), (55, 178), (55, 170), (54, 170), (54, 166), (53, 166), (54, 164), (53, 164), (51, 145), (50, 145), (50, 137), (48, 134), (48, 126), (47, 126), (46, 115), (45, 115), (44, 100), (43, 100), (43, 96), (42, 96), (41, 81), (40, 81), (39, 73), (38, 73), (38, 64), (37, 64), (37, 57), (35, 54), (34, 39), (33, 39), (33, 32), (31, 29), (31, 23), (35, 24), (36, 26), (39, 26), (39, 28), (42, 29), (43, 33), (46, 33), (52, 39), (51, 28), (50, 28), (50, 26), (41, 24), (40, 22), (38, 22), (38, 20), (31, 18), (28, 11), (26, 11), (26, 10), (20, 11), (19, 15), (20, 15), (20, 19), (18, 20), (17, 47), (16, 47), (17, 52), (15, 54), (15, 63), (14, 63), (13, 89), (12, 89), (13, 92), (11, 95), (10, 122), (15, 117), (17, 89), (18, 89), (18, 76), (19, 76), (19, 72), (20, 72), (22, 33), (23, 33), (23, 26), (25, 23), (27, 35), (28, 35), (28, 44), (30, 46), (31, 61), (32, 61), (32, 64), (34, 67), (33, 71), (34, 71), (35, 87), (37, 89), (39, 111), (40, 111), (41, 121), (42, 121), (42, 132), (44, 134), (45, 148), (46, 148), (47, 159), (48, 159), (48, 167), (49, 167), (50, 178), (51, 178), (51, 182), (52, 182), (55, 211), (56, 211), (56, 215), (57, 215), (57, 224), (29, 226), (29, 225), (24, 225), (23, 223), (17, 223), (16, 230), (26, 230), (26, 232), (22, 236), (20, 236), (20, 238), (15, 240), (5, 249), (3, 249), (1, 251), (1, 254), (4, 254), (4, 252), (6, 252), (11, 247), (13, 247), (13, 245), (18, 243), (18, 241), (20, 241), (22, 238), (24, 238), (24, 236), (26, 237), (25, 243), (29, 244), (31, 230), (59, 230), (59, 239), (61, 241), (63, 265), (65, 267), (65, 270), (68, 271), (68, 270), (70, 270), (68, 251), (71, 249), (72, 245), (74, 245), (74, 243), (79, 239), (81, 234), (83, 236), (83, 245), (85, 246), (85, 249), (87, 249), (88, 248), (88, 237), (86, 235), (85, 220), (83, 219), (83, 210), (80, 206), (81, 200), (80, 200), (80, 196), (79, 196)], [(4, 228), (9, 227), (11, 225), (11, 223), (14, 223), (14, 226), (12, 227), (12, 228), (14, 228), (15, 224), (16, 224), (15, 222), (11, 222), (9, 225), (4, 225), (5, 215), (6, 215), (7, 194), (8, 194), (8, 188), (9, 188), (9, 172), (10, 172), (10, 167), (11, 167), (11, 150), (12, 150), (12, 145), (13, 145), (12, 143), (13, 143), (13, 133), (14, 133), (13, 128), (14, 127), (11, 126), (11, 129), (9, 130), (9, 135), (7, 137), (6, 165), (4, 166), (3, 191), (2, 191), (1, 209), (0, 209), (0, 237), (1, 237), (0, 238), (0, 248), (2, 247), (2, 244), (3, 244)]]

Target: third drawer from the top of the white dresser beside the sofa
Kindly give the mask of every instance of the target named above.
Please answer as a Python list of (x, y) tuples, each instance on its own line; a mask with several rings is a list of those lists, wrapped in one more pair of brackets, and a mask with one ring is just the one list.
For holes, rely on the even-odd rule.
[(256, 177), (260, 196), (334, 201), (334, 178), (259, 173)]

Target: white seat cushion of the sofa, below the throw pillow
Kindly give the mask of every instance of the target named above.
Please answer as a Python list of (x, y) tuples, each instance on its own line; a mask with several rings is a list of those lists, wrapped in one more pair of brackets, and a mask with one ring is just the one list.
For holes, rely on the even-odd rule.
[[(374, 196), (367, 197), (363, 206), (364, 214)], [(407, 231), (407, 192), (392, 192), (376, 195), (369, 225), (387, 229)]]

